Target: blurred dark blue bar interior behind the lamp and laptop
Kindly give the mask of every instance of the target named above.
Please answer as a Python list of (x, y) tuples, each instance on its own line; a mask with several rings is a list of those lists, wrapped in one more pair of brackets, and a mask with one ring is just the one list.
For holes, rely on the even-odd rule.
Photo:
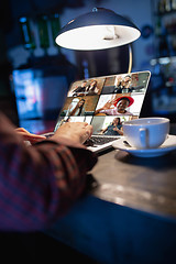
[(132, 72), (152, 73), (147, 114), (175, 122), (176, 0), (7, 0), (0, 3), (0, 110), (15, 125), (48, 132), (73, 81), (128, 72), (128, 45), (84, 52), (55, 44), (63, 25), (94, 7), (138, 25)]

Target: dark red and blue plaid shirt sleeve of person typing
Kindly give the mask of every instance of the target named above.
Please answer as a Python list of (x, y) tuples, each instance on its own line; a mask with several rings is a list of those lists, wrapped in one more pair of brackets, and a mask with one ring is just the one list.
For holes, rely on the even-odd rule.
[(97, 157), (70, 143), (25, 146), (0, 114), (0, 230), (35, 231), (66, 213)]

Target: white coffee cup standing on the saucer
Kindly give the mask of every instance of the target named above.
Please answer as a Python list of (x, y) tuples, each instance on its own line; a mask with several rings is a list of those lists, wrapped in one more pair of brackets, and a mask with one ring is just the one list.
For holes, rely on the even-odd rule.
[(123, 134), (131, 146), (156, 148), (164, 143), (169, 133), (169, 119), (141, 118), (123, 123)]

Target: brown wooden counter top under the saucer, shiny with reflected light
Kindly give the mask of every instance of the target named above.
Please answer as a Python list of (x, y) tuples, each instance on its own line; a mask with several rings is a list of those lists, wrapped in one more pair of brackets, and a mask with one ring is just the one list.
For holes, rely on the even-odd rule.
[(91, 173), (99, 184), (96, 197), (176, 219), (176, 152), (146, 158), (112, 151)]

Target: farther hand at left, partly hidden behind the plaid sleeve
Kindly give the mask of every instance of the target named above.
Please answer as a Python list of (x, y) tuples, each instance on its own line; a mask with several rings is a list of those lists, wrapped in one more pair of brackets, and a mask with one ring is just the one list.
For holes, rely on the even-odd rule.
[(18, 134), (20, 134), (23, 138), (24, 141), (30, 141), (31, 144), (34, 144), (34, 143), (43, 141), (43, 140), (46, 140), (46, 136), (32, 134), (23, 128), (15, 129), (15, 132), (18, 132)]

